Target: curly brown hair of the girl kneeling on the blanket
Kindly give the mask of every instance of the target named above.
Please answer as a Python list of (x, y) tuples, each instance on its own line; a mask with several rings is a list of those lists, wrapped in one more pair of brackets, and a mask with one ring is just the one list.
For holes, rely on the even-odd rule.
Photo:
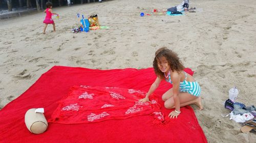
[(162, 79), (164, 78), (164, 74), (160, 71), (160, 69), (158, 68), (158, 64), (157, 64), (158, 63), (157, 61), (162, 56), (164, 56), (166, 58), (169, 66), (170, 66), (170, 69), (172, 71), (176, 70), (176, 71), (180, 72), (185, 68), (182, 65), (182, 62), (180, 61), (180, 58), (178, 57), (177, 53), (173, 52), (170, 49), (167, 49), (166, 47), (160, 48), (155, 53), (153, 67), (154, 67), (156, 75), (160, 76)]

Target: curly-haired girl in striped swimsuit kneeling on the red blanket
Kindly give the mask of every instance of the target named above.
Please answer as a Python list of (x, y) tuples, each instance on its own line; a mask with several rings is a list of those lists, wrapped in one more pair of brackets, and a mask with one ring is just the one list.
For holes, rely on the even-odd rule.
[(175, 108), (168, 117), (177, 118), (181, 113), (180, 107), (189, 104), (196, 104), (200, 110), (203, 109), (200, 86), (193, 76), (183, 71), (184, 66), (175, 52), (165, 47), (158, 49), (155, 53), (153, 67), (157, 78), (148, 90), (146, 97), (140, 102), (150, 101), (148, 97), (158, 88), (161, 80), (165, 79), (173, 84), (173, 88), (162, 96), (164, 107), (167, 109)]

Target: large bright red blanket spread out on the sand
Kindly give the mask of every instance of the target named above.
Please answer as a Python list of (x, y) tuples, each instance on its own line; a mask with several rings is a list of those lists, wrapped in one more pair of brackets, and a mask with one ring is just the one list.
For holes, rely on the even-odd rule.
[[(185, 71), (191, 75), (193, 74), (190, 69), (185, 69)], [(207, 142), (194, 110), (190, 106), (181, 108), (182, 113), (178, 119), (169, 119), (168, 122), (163, 122), (162, 125), (153, 124), (152, 119), (155, 117), (154, 112), (156, 110), (162, 112), (163, 116), (172, 111), (165, 109), (161, 100), (161, 95), (171, 87), (169, 83), (161, 82), (159, 88), (155, 91), (155, 95), (152, 96), (156, 96), (156, 105), (159, 106), (153, 107), (151, 104), (136, 105), (135, 100), (137, 101), (143, 96), (155, 78), (153, 68), (93, 70), (54, 66), (48, 72), (42, 74), (25, 93), (0, 110), (0, 142)], [(91, 87), (84, 88), (74, 85), (89, 85)], [(118, 89), (105, 87), (117, 87)], [(85, 116), (83, 118), (85, 120), (81, 120), (79, 117), (75, 122), (73, 120), (76, 118), (73, 116), (70, 116), (67, 120), (61, 118), (63, 115), (69, 115), (66, 112), (67, 110), (61, 111), (61, 109), (69, 109), (68, 105), (71, 104), (71, 102), (65, 100), (86, 100), (84, 98), (91, 100), (92, 96), (95, 97), (93, 102), (97, 103), (96, 89), (104, 97), (108, 95), (108, 98), (112, 98), (110, 92), (114, 92), (113, 90), (115, 90), (115, 93), (121, 93), (122, 97), (114, 93), (113, 97), (119, 97), (119, 100), (126, 98), (127, 101), (123, 102), (125, 108), (121, 106), (118, 99), (103, 100), (103, 96), (102, 99), (99, 96), (97, 97), (100, 100), (99, 104), (91, 103), (89, 110), (84, 109), (81, 112), (90, 115), (91, 112), (89, 111), (96, 109), (95, 112), (92, 112), (95, 115), (89, 116), (89, 118)], [(133, 90), (130, 91), (132, 94), (129, 93), (129, 89)], [(134, 91), (137, 91), (137, 93)], [(71, 96), (73, 93), (75, 94)], [(79, 96), (81, 96), (80, 99), (78, 99)], [(69, 100), (71, 97), (77, 99)], [(72, 102), (72, 104), (75, 103)], [(106, 118), (96, 118), (102, 111), (110, 112), (111, 115), (110, 104), (116, 105), (116, 109), (120, 109), (120, 112), (117, 115), (106, 116)], [(143, 107), (143, 111), (140, 113), (133, 112), (134, 114), (130, 115), (120, 114), (129, 109), (128, 105), (132, 107), (136, 105), (136, 108), (139, 108), (138, 110)], [(101, 108), (102, 106), (106, 108)], [(39, 107), (45, 108), (44, 115), (50, 123), (46, 132), (32, 134), (26, 128), (24, 116), (28, 109)], [(166, 116), (165, 119), (167, 119)]]

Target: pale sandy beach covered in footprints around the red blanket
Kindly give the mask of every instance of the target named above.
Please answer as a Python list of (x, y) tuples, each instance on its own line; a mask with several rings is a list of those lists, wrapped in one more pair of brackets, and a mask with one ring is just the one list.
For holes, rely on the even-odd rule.
[[(56, 32), (48, 25), (46, 35), (43, 12), (0, 21), (0, 109), (55, 65), (148, 68), (155, 51), (166, 46), (195, 71), (205, 108), (192, 107), (208, 142), (254, 142), (256, 134), (241, 133), (241, 124), (221, 114), (229, 113), (223, 103), (234, 86), (238, 102), (256, 103), (256, 1), (191, 0), (195, 13), (140, 16), (180, 3), (117, 0), (53, 8), (60, 17), (53, 17)], [(99, 23), (110, 28), (73, 34), (77, 13), (97, 14)]]

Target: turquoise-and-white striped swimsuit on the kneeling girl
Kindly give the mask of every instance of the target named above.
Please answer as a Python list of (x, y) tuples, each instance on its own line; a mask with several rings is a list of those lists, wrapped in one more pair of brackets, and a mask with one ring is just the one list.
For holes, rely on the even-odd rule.
[[(185, 73), (185, 80), (180, 82), (180, 92), (187, 92), (191, 95), (199, 97), (201, 94), (201, 88), (198, 84), (197, 81), (187, 81), (187, 73)], [(165, 73), (164, 76), (166, 77)], [(165, 80), (169, 83), (173, 83), (172, 80), (170, 79), (170, 72), (167, 75), (168, 77), (165, 78)], [(167, 79), (168, 78), (168, 79)]]

